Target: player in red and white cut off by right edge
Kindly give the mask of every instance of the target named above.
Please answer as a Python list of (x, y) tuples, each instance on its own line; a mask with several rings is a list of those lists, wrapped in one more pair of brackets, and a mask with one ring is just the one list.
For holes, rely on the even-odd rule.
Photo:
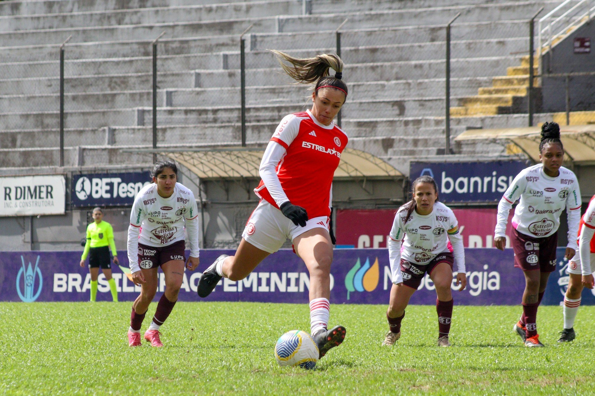
[[(591, 198), (587, 211), (581, 217), (578, 230), (578, 252), (568, 262), (568, 289), (564, 296), (564, 328), (560, 331), (559, 343), (574, 340), (574, 319), (581, 305), (583, 287), (593, 289), (595, 270), (595, 195)], [(582, 277), (581, 277), (582, 275)]]

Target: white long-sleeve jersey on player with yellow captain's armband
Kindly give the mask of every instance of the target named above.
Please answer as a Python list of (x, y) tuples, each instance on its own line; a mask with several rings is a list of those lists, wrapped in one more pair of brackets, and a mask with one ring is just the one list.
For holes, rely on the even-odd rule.
[(415, 264), (428, 264), (437, 255), (450, 251), (449, 240), (456, 271), (465, 272), (463, 239), (459, 234), (459, 223), (449, 207), (436, 202), (434, 210), (428, 215), (421, 216), (415, 210), (409, 220), (406, 215), (407, 208), (403, 205), (397, 210), (390, 230), (389, 261), (394, 284), (402, 282), (401, 258)]

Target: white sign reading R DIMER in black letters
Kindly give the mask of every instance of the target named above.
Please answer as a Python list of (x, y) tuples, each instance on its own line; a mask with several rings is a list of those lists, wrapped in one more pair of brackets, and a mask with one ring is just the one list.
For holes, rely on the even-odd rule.
[(64, 214), (64, 175), (0, 178), (0, 216)]

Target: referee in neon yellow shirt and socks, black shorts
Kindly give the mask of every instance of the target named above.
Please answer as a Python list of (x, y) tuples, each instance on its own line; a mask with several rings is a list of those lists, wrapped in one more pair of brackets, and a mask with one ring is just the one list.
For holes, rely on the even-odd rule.
[(101, 208), (93, 209), (93, 223), (87, 227), (87, 242), (84, 245), (83, 255), (80, 257), (80, 266), (84, 267), (84, 262), (89, 255), (89, 272), (91, 273), (91, 301), (95, 302), (97, 298), (97, 277), (99, 267), (109, 283), (114, 302), (118, 302), (118, 290), (115, 287), (115, 280), (111, 275), (111, 258), (109, 249), (114, 255), (114, 264), (118, 262), (117, 252), (114, 243), (114, 229), (107, 221), (102, 221), (104, 212)]

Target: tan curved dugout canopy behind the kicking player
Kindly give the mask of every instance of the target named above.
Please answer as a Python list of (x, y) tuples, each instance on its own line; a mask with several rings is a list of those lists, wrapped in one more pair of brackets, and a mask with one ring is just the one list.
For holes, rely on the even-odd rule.
[[(201, 179), (259, 178), (258, 168), (264, 150), (259, 148), (180, 148), (173, 150), (134, 150), (157, 152), (170, 157)], [(365, 151), (346, 148), (334, 173), (339, 179), (394, 179), (403, 174), (392, 165)]]

